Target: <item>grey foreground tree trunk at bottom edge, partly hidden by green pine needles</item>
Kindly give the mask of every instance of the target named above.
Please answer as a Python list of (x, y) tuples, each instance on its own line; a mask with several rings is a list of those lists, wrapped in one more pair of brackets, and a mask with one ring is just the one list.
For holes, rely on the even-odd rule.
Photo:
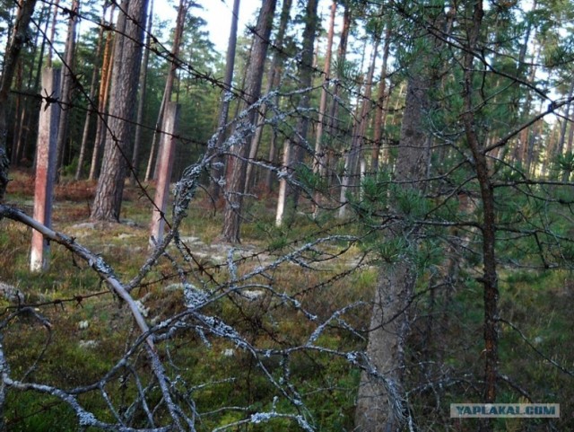
[[(401, 139), (396, 157), (395, 180), (420, 192), (429, 158), (423, 115), (429, 105), (429, 79), (411, 75), (407, 84)], [(396, 210), (397, 211), (397, 210)], [(397, 216), (401, 216), (398, 212)], [(416, 230), (396, 224), (387, 241), (403, 237), (416, 248)], [(374, 368), (361, 376), (355, 424), (362, 432), (400, 430), (404, 421), (404, 347), (410, 326), (416, 269), (408, 253), (378, 271), (378, 284), (370, 319), (367, 356)], [(375, 374), (374, 372), (377, 372)]]

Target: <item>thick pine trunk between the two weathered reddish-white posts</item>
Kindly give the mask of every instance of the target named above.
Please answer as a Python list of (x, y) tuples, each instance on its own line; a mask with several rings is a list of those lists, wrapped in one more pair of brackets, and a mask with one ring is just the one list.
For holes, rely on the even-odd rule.
[[(137, 77), (142, 61), (143, 25), (146, 0), (122, 2), (114, 42), (115, 61), (109, 101), (109, 131), (106, 137), (104, 161), (96, 189), (91, 219), (119, 221), (121, 200), (129, 163), (130, 137), (135, 119), (133, 107), (137, 93)], [(129, 17), (129, 19), (128, 19)]]

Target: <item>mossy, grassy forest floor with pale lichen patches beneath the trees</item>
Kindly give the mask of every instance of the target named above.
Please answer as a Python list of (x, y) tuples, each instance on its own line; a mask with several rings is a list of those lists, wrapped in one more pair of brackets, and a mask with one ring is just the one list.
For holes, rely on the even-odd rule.
[[(10, 198), (29, 210), (29, 176), (16, 172), (14, 187), (22, 190)], [(67, 187), (57, 196), (57, 229), (100, 253), (121, 280), (133, 278), (148, 253), (149, 203), (127, 187), (125, 222), (90, 225), (88, 199), (93, 185)], [(142, 302), (152, 326), (179, 317), (172, 333), (158, 331), (164, 337), (158, 350), (173, 377), (173, 388), (181, 398), (192, 398), (202, 414), (197, 430), (241, 422), (257, 412), (299, 414), (295, 400), (304, 403), (317, 430), (352, 430), (361, 370), (327, 351), (360, 351), (366, 346), (378, 283), (370, 247), (379, 239), (373, 235), (369, 244), (351, 246), (343, 241), (326, 243), (301, 255), (311, 263), (308, 268), (285, 261), (247, 278), (254, 269), (315, 239), (317, 233), (361, 233), (350, 222), (325, 215), (312, 220), (305, 208), (277, 228), (273, 203), (270, 198), (250, 208), (251, 214), (264, 216), (244, 221), (243, 244), (235, 251), (231, 270), (226, 267), (228, 246), (212, 244), (221, 232), (221, 208), (213, 207), (199, 192), (181, 227), (191, 254), (185, 260), (170, 248), (132, 295)], [(126, 416), (126, 423), (148, 427), (145, 411), (132, 403), (141, 389), (151, 406), (161, 401), (161, 393), (150, 377), (142, 346), (135, 346), (139, 333), (126, 305), (101, 284), (87, 263), (57, 245), (52, 246), (48, 271), (31, 274), (30, 234), (22, 225), (0, 221), (0, 281), (18, 287), (30, 306), (30, 313), (14, 317), (4, 329), (4, 352), (13, 378), (72, 391), (99, 383), (133, 349), (126, 362), (129, 367), (118, 367), (106, 384), (77, 394), (77, 399), (102, 421), (116, 421), (111, 404)], [(474, 420), (448, 419), (448, 404), (482, 399), (483, 288), (475, 278), (476, 269), (468, 266), (450, 280), (440, 273), (439, 249), (426, 252), (433, 256), (424, 264), (434, 273), (420, 278), (417, 287), (413, 328), (404, 353), (409, 366), (405, 389), (420, 430), (476, 430)], [(326, 260), (330, 255), (336, 258)], [(558, 402), (562, 412), (569, 412), (574, 406), (572, 378), (552, 362), (567, 368), (574, 364), (571, 275), (557, 270), (501, 269), (500, 317), (522, 334), (508, 324), (500, 325), (500, 373), (509, 377), (500, 379), (500, 401), (521, 401), (524, 395), (517, 389), (523, 389), (533, 401)], [(178, 285), (183, 278), (214, 299), (201, 307), (200, 314), (186, 314), (190, 300)], [(349, 304), (355, 305), (337, 313)], [(17, 310), (5, 299), (0, 305), (3, 320)], [(217, 317), (247, 344), (210, 333), (201, 321), (205, 317)], [(304, 347), (323, 323), (323, 331), (307, 348), (284, 356), (276, 353)], [(255, 352), (252, 347), (261, 350)], [(167, 417), (164, 409), (153, 411), (158, 423)], [(18, 431), (76, 430), (78, 425), (73, 411), (57, 398), (15, 389), (8, 392), (5, 420), (10, 430)], [(495, 430), (545, 430), (551, 424), (556, 430), (574, 428), (573, 420), (563, 417), (528, 422), (502, 419)], [(272, 419), (246, 423), (237, 430), (300, 428), (293, 419)]]

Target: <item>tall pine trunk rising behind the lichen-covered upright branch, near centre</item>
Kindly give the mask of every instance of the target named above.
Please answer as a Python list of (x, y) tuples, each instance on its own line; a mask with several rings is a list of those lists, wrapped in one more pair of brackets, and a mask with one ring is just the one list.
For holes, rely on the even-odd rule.
[[(245, 109), (253, 105), (261, 93), (263, 72), (265, 66), (265, 56), (269, 46), (269, 37), (273, 28), (273, 19), (276, 0), (265, 0), (262, 2), (261, 10), (257, 18), (255, 29), (255, 40), (251, 51), (247, 83), (245, 86), (245, 102), (242, 104)], [(242, 120), (246, 125), (255, 123), (257, 112), (250, 110), (248, 116)], [(226, 176), (225, 208), (223, 210), (222, 238), (227, 242), (238, 243), (239, 230), (241, 225), (241, 207), (243, 204), (243, 190), (245, 187), (245, 176), (247, 165), (245, 159), (249, 154), (249, 137), (244, 137), (242, 142), (232, 145), (230, 157), (228, 158), (228, 170)]]

